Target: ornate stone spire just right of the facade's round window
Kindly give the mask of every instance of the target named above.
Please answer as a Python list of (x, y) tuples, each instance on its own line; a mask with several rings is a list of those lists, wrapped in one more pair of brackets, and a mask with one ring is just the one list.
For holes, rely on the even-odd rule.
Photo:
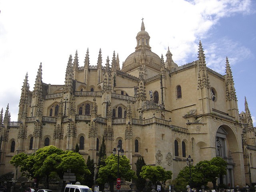
[(230, 68), (230, 64), (228, 62), (228, 57), (226, 57), (226, 100), (235, 100), (236, 98), (236, 90), (234, 88), (234, 80)]

